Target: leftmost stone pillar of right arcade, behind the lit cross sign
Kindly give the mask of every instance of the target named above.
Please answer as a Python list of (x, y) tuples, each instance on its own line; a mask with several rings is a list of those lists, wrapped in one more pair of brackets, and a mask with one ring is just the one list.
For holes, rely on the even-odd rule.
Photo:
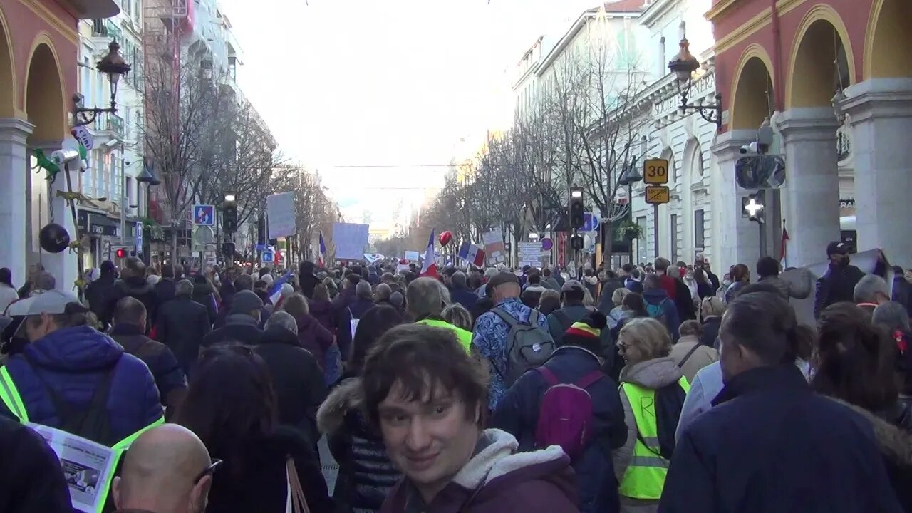
[(757, 225), (741, 217), (741, 197), (748, 194), (735, 182), (735, 161), (741, 146), (757, 140), (757, 131), (726, 131), (712, 145), (715, 161), (712, 173), (712, 269), (719, 276), (730, 266), (745, 264), (753, 268), (760, 257)]

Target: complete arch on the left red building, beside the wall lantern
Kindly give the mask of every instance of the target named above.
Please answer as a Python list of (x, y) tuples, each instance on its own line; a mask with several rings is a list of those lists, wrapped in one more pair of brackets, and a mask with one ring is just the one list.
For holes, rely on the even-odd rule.
[(35, 130), (28, 141), (59, 142), (67, 134), (66, 96), (57, 52), (47, 34), (36, 37), (30, 56), (24, 103)]

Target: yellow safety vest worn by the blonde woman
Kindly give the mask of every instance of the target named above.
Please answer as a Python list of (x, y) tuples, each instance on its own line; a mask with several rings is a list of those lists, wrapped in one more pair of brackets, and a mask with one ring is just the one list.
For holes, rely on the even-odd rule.
[[(682, 376), (678, 384), (685, 393), (690, 391), (687, 378)], [(658, 500), (665, 487), (668, 460), (659, 455), (656, 391), (627, 382), (621, 383), (621, 389), (627, 393), (639, 436), (634, 442), (633, 459), (624, 472), (618, 492), (624, 497)]]

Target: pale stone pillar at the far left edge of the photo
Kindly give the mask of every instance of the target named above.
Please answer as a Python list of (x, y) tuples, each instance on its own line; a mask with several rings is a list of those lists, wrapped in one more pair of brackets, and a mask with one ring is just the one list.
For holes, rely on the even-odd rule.
[(26, 280), (26, 139), (35, 125), (17, 118), (0, 119), (0, 267), (9, 267), (13, 283)]

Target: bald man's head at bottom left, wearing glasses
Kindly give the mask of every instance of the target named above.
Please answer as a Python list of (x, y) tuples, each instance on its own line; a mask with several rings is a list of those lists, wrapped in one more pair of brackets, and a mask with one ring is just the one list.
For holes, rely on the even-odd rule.
[(196, 434), (178, 424), (151, 428), (130, 445), (112, 492), (119, 509), (202, 513), (212, 476), (193, 480), (212, 464)]

